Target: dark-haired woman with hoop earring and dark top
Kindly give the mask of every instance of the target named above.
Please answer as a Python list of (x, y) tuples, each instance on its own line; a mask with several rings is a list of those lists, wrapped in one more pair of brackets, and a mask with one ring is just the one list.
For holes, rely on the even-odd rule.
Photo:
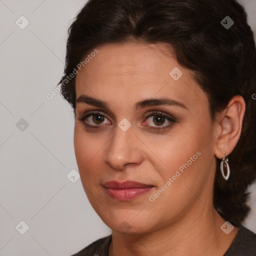
[(256, 53), (235, 0), (89, 0), (62, 96), (84, 191), (112, 234), (78, 255), (256, 255)]

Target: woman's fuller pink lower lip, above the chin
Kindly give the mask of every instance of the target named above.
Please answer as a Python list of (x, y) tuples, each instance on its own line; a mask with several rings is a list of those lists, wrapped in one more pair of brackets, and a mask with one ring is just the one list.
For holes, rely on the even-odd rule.
[(127, 189), (113, 189), (106, 188), (107, 194), (115, 200), (127, 201), (133, 200), (134, 198), (148, 192), (152, 186), (149, 187), (133, 187)]

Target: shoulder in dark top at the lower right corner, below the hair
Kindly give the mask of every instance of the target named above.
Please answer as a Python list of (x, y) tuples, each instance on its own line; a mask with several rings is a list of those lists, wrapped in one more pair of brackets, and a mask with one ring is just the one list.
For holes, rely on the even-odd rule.
[(223, 256), (236, 255), (256, 256), (256, 234), (242, 225)]

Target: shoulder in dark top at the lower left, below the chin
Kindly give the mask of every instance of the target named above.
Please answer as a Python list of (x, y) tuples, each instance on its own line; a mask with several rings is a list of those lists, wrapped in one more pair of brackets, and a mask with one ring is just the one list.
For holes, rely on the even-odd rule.
[(112, 235), (108, 235), (97, 239), (96, 241), (90, 243), (85, 248), (72, 254), (71, 256), (108, 256), (108, 248), (112, 240)]

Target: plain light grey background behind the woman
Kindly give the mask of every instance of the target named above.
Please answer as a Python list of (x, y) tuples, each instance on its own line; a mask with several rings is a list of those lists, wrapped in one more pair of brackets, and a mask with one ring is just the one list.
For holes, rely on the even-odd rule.
[[(72, 109), (60, 93), (46, 97), (62, 75), (67, 28), (84, 2), (0, 0), (1, 256), (71, 255), (110, 234), (78, 177)], [(240, 2), (256, 31), (256, 1)], [(15, 23), (25, 24), (21, 15), (24, 29)], [(256, 232), (256, 184), (250, 190), (245, 226)], [(20, 221), (29, 227), (24, 234)]]

